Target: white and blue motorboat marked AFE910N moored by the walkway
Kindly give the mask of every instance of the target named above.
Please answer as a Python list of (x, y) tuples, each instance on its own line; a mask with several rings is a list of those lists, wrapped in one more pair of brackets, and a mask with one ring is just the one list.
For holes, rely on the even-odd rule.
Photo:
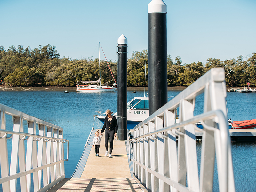
[[(104, 123), (105, 112), (96, 111), (96, 117)], [(117, 118), (117, 112), (113, 114)], [(134, 97), (127, 103), (127, 129), (133, 129), (149, 116), (148, 97)]]

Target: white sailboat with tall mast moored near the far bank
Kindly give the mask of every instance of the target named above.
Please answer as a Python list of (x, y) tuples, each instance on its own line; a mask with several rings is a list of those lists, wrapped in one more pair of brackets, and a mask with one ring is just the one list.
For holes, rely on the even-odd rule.
[[(107, 61), (107, 63), (108, 63), (108, 61)], [(100, 65), (100, 41), (99, 41), (99, 65)], [(110, 72), (111, 72), (111, 69), (110, 69)], [(111, 74), (112, 74), (112, 72), (111, 72)], [(112, 74), (112, 76), (113, 76), (113, 74)], [(113, 76), (113, 79), (114, 79), (114, 76)], [(81, 82), (84, 84), (90, 84), (90, 85), (77, 84), (76, 85), (77, 92), (114, 92), (117, 89), (116, 81), (115, 81), (115, 83), (112, 84), (112, 86), (101, 85), (101, 76), (97, 81), (81, 81)], [(96, 84), (96, 83), (100, 83), (100, 85), (92, 85), (92, 84)]]

